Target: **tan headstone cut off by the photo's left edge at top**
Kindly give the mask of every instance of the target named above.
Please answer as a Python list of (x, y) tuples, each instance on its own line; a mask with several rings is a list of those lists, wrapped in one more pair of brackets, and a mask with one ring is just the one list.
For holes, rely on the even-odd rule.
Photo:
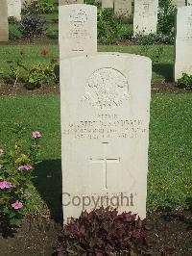
[(7, 0), (0, 1), (0, 41), (9, 40)]

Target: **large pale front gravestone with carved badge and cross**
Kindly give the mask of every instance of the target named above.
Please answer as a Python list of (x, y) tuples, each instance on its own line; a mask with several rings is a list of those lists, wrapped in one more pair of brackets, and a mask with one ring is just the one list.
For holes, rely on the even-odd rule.
[(64, 222), (102, 205), (146, 217), (151, 76), (132, 54), (60, 62)]

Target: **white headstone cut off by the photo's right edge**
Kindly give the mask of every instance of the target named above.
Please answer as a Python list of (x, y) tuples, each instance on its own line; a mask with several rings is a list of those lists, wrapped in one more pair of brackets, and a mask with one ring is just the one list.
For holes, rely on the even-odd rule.
[(182, 73), (192, 75), (192, 7), (180, 7), (175, 43), (175, 81)]

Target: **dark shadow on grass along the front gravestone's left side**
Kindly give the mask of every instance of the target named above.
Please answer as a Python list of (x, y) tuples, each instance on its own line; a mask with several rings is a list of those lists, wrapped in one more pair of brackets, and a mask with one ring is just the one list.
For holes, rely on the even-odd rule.
[(33, 183), (41, 198), (47, 204), (51, 217), (56, 221), (62, 219), (61, 206), (61, 160), (44, 160), (36, 166)]

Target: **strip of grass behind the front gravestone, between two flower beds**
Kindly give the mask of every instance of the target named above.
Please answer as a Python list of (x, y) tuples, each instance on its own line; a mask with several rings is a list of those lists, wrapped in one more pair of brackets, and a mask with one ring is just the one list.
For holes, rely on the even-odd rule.
[[(121, 52), (145, 55), (147, 53), (152, 59), (154, 59), (157, 49), (163, 48), (163, 54), (159, 58), (159, 62), (153, 65), (153, 82), (157, 81), (172, 81), (173, 79), (173, 64), (174, 64), (174, 47), (173, 46), (116, 46), (106, 45), (99, 46), (99, 51), (106, 52)], [(36, 62), (48, 63), (51, 59), (59, 58), (59, 46), (58, 45), (28, 45), (28, 46), (1, 46), (0, 47), (0, 69), (5, 74), (9, 71), (9, 65), (7, 61), (17, 60), (20, 57), (20, 50), (24, 49), (26, 55), (22, 57), (23, 61), (32, 66)], [(42, 49), (49, 49), (50, 54), (46, 57), (40, 54)], [(0, 74), (1, 77), (1, 74)]]

